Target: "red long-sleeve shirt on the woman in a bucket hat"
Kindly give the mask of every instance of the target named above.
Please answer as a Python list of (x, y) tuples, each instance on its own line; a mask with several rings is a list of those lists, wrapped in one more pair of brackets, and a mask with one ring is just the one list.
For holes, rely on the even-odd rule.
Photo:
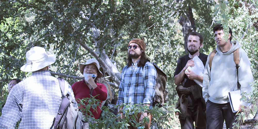
[[(96, 82), (96, 85), (98, 87), (93, 89), (92, 96), (98, 95), (95, 97), (95, 99), (100, 100), (100, 102), (102, 103), (102, 101), (107, 99), (107, 87), (104, 84), (97, 83), (97, 82)], [(81, 80), (79, 82), (72, 84), (72, 90), (74, 92), (75, 99), (91, 98), (91, 96), (90, 96), (91, 89), (87, 86), (87, 84), (85, 83), (85, 80)], [(76, 100), (76, 101), (79, 102), (79, 100)], [(86, 102), (85, 102), (85, 105), (87, 105)], [(101, 115), (100, 107), (101, 107), (101, 105), (99, 105), (97, 107), (97, 111), (94, 111), (93, 108), (90, 109), (90, 111), (92, 112), (92, 115), (95, 119), (99, 119), (99, 117)], [(82, 108), (82, 107), (80, 107), (80, 108)]]

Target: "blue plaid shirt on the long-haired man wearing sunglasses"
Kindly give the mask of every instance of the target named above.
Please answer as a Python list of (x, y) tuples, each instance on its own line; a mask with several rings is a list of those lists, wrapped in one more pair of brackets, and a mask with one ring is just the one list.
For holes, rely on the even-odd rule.
[(150, 62), (146, 62), (143, 68), (138, 67), (137, 63), (122, 70), (117, 104), (150, 103), (152, 106), (157, 71)]

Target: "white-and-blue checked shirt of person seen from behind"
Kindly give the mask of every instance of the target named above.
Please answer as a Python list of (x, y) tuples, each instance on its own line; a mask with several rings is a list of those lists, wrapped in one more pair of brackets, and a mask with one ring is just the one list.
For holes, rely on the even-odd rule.
[[(65, 81), (67, 93), (76, 103), (72, 88)], [(0, 117), (0, 128), (12, 129), (21, 119), (19, 129), (49, 129), (57, 116), (61, 96), (58, 79), (51, 76), (49, 71), (33, 72), (32, 76), (16, 84), (9, 93)]]

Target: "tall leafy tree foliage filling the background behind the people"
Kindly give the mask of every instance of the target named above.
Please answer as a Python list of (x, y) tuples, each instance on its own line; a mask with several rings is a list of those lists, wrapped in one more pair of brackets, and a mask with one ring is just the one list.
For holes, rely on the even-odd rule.
[[(231, 27), (233, 40), (239, 41), (248, 54), (254, 79), (257, 79), (258, 33), (253, 26), (257, 21), (257, 2), (228, 0), (228, 3), (214, 3), (216, 1), (211, 0), (0, 1), (0, 98), (3, 100), (6, 96), (9, 80), (31, 75), (22, 72), (20, 67), (26, 63), (26, 51), (33, 46), (44, 47), (49, 54), (57, 55), (51, 71), (81, 76), (78, 64), (93, 58), (92, 51), (99, 56), (104, 50), (121, 71), (126, 65), (127, 43), (133, 38), (141, 38), (146, 42), (146, 53), (151, 62), (156, 62), (168, 76), (167, 103), (173, 106), (178, 97), (173, 76), (176, 61), (186, 54), (184, 36), (187, 35), (182, 33), (184, 28), (179, 24), (182, 16), (187, 17), (187, 24), (194, 22), (190, 23), (195, 25), (191, 31), (196, 30), (204, 36), (204, 46), (200, 49), (204, 54), (216, 47), (212, 32), (214, 24), (221, 20)], [(192, 13), (192, 19), (186, 15), (188, 13)], [(79, 42), (91, 50), (85, 50)], [(70, 85), (78, 81), (65, 79)]]

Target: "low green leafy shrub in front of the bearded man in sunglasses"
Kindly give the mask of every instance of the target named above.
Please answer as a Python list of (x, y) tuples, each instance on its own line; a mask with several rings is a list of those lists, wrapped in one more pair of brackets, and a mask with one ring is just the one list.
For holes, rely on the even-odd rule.
[[(85, 102), (88, 103), (85, 105)], [(163, 108), (153, 107), (152, 109), (149, 109), (147, 106), (144, 106), (143, 104), (123, 104), (124, 109), (122, 110), (124, 112), (123, 119), (120, 118), (120, 115), (115, 116), (111, 112), (110, 105), (107, 107), (103, 107), (103, 111), (101, 113), (101, 117), (99, 119), (93, 118), (90, 112), (90, 108), (95, 109), (96, 106), (100, 104), (99, 100), (93, 99), (93, 98), (85, 98), (80, 100), (78, 103), (78, 106), (85, 107), (80, 108), (80, 110), (83, 112), (83, 115), (85, 116), (84, 120), (89, 121), (90, 128), (128, 128), (128, 123), (132, 123), (132, 125), (138, 127), (141, 124), (136, 122), (135, 116), (138, 114), (138, 112), (144, 112), (145, 110), (148, 110), (150, 114), (153, 115), (152, 117), (152, 125), (155, 125), (155, 128), (173, 128), (173, 126), (167, 121), (174, 120), (173, 118), (173, 112), (177, 111), (171, 106), (164, 106)], [(119, 106), (117, 106), (119, 108)], [(90, 114), (90, 115), (87, 115)], [(149, 122), (149, 118), (145, 117), (143, 118), (143, 123)]]

